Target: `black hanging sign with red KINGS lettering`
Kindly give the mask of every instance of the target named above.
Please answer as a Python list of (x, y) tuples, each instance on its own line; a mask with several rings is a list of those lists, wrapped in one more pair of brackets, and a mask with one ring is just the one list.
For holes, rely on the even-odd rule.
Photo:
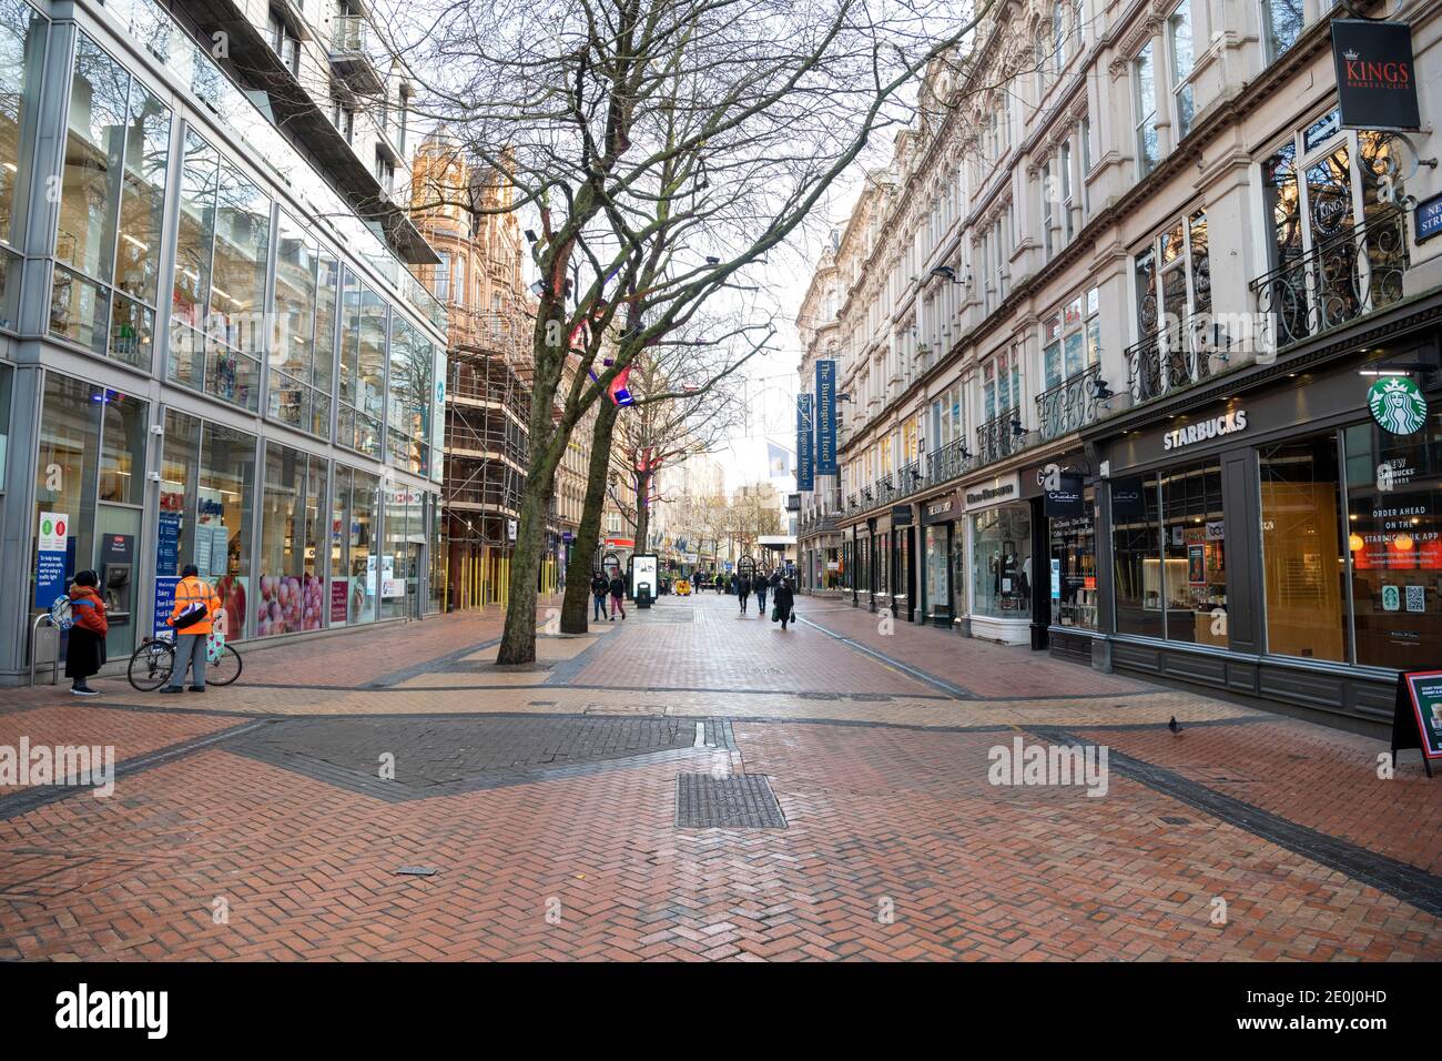
[(1412, 27), (1405, 22), (1332, 19), (1332, 62), (1343, 128), (1422, 127)]

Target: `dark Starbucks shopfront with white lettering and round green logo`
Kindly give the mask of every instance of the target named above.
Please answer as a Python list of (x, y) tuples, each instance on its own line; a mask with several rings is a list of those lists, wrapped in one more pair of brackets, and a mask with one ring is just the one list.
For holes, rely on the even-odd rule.
[(1097, 665), (1374, 723), (1397, 670), (1442, 667), (1442, 374), (1435, 331), (1406, 331), (1249, 367), (1089, 439), (1109, 472)]

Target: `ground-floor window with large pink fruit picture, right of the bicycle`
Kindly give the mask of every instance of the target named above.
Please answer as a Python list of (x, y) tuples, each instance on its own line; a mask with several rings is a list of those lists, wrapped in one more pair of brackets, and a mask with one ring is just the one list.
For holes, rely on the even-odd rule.
[(326, 479), (323, 459), (274, 442), (265, 445), (257, 637), (324, 625), (317, 549), (324, 540), (320, 520), (327, 504)]

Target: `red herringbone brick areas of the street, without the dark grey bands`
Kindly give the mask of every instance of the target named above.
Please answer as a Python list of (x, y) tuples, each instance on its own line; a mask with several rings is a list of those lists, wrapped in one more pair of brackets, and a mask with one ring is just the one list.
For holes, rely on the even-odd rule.
[[(597, 642), (578, 680), (919, 687), (815, 629), (782, 634), (731, 619), (731, 598), (708, 603), (694, 624), (666, 614), (686, 602), (629, 621)], [(363, 684), (493, 637), (487, 622), (499, 629), (495, 615), (448, 616), (255, 652), (247, 676)], [(901, 634), (943, 638), (947, 651)], [(950, 681), (956, 671), (978, 693), (1002, 690), (989, 696), (1149, 689), (934, 631), (884, 641), (911, 665), (945, 664)], [(717, 715), (725, 703), (720, 694)], [(823, 710), (799, 700), (796, 715)], [(27, 732), (138, 754), (234, 723), (55, 700), (0, 715), (0, 742)], [(744, 719), (733, 729), (733, 759), (771, 778), (787, 829), (676, 830), (675, 775), (705, 769), (709, 754), (392, 804), (208, 748), (125, 778), (115, 798), (0, 820), (0, 959), (1442, 959), (1436, 917), (1116, 772), (1105, 798), (992, 787), (986, 751), (1009, 730)], [(1373, 781), (1380, 742), (1301, 722), (1193, 726), (1181, 738), (1071, 732), (1438, 866), (1428, 823), (1442, 820), (1442, 787), (1406, 768), (1400, 781)], [(407, 863), (440, 873), (392, 875)], [(1216, 896), (1229, 905), (1224, 927), (1210, 922)], [(218, 898), (226, 924), (213, 921)], [(559, 924), (547, 921), (551, 898)], [(883, 902), (894, 921), (878, 917)]]

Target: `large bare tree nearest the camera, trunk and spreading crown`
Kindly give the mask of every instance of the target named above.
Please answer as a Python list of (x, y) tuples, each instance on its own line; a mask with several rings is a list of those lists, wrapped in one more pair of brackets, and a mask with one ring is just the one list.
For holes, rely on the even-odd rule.
[(708, 302), (746, 305), (748, 266), (877, 128), (908, 120), (901, 89), (976, 19), (947, 0), (450, 0), (414, 14), (411, 69), (437, 72), (414, 110), (539, 218), (532, 446), (497, 652), (529, 663), (545, 502), (571, 430)]

